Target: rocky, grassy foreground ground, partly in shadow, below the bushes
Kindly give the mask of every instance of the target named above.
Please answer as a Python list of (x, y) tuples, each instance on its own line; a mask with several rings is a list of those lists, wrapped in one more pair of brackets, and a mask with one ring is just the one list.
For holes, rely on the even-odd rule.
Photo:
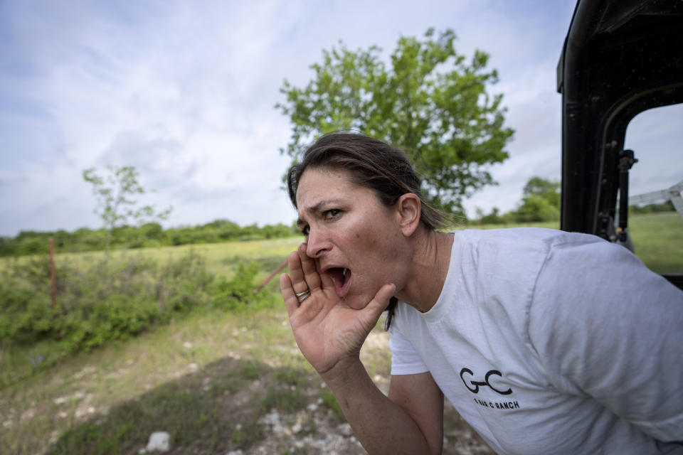
[[(169, 328), (0, 390), (0, 455), (159, 453), (146, 446), (154, 432), (168, 433), (166, 454), (364, 454), (287, 321), (269, 317), (224, 332), (201, 319), (206, 335)], [(388, 355), (386, 331), (373, 331), (361, 360), (385, 393)], [(493, 453), (448, 402), (444, 421), (444, 454)]]

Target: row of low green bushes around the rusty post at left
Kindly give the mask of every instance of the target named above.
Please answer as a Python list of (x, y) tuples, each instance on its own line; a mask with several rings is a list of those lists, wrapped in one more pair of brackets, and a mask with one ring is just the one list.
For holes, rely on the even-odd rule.
[(58, 267), (57, 306), (51, 303), (46, 257), (8, 264), (0, 274), (0, 341), (31, 346), (44, 340), (65, 350), (91, 350), (136, 336), (197, 309), (262, 308), (267, 292), (254, 294), (258, 265), (239, 264), (230, 280), (217, 279), (195, 252), (162, 267), (129, 257)]

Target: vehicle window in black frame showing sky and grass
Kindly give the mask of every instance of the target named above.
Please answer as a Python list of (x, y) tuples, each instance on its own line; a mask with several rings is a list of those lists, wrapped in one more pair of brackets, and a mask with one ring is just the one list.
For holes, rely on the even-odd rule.
[(683, 274), (683, 213), (666, 195), (683, 189), (683, 104), (638, 114), (626, 130), (624, 149), (638, 160), (629, 175), (628, 229), (635, 254), (655, 272)]

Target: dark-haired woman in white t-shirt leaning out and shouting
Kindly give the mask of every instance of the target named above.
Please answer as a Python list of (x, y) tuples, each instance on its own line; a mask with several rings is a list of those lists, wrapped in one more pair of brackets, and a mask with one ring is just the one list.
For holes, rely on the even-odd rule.
[[(319, 139), (288, 188), (292, 330), (370, 454), (440, 453), (444, 395), (499, 453), (683, 453), (683, 293), (628, 250), (436, 232), (406, 155), (358, 134)], [(386, 397), (359, 351), (390, 301)]]

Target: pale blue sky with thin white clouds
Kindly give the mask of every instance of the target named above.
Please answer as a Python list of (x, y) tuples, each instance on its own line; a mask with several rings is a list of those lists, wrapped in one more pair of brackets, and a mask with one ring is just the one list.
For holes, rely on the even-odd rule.
[[(471, 57), (491, 55), (510, 158), (498, 186), (465, 202), (512, 210), (531, 176), (558, 180), (556, 66), (573, 0), (0, 0), (0, 235), (100, 228), (83, 169), (135, 166), (139, 200), (173, 208), (166, 227), (296, 218), (282, 190), (290, 139), (278, 109), (285, 78), (302, 87), (339, 41), (391, 53), (400, 36), (452, 28)], [(626, 145), (664, 165), (634, 168), (631, 194), (683, 179), (674, 159), (683, 109), (637, 116)], [(661, 112), (660, 112), (661, 111)], [(642, 117), (645, 116), (645, 117)], [(678, 121), (681, 120), (680, 122)], [(667, 120), (667, 122), (662, 122)], [(667, 124), (669, 126), (667, 126)], [(663, 138), (663, 139), (662, 139)]]

